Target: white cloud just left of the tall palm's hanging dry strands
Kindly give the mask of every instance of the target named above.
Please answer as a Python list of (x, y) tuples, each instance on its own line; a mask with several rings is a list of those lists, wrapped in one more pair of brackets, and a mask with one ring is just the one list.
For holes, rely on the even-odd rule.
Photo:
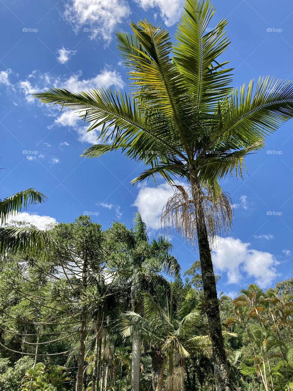
[(149, 228), (159, 228), (159, 217), (169, 197), (174, 194), (173, 188), (164, 183), (158, 187), (144, 186), (139, 190), (134, 201), (143, 221)]

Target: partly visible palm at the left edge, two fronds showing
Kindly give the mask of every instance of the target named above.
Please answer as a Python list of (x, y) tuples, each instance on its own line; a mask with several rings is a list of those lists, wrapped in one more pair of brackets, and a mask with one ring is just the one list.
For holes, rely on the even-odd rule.
[(17, 252), (34, 255), (54, 245), (50, 234), (34, 227), (9, 227), (4, 224), (11, 215), (26, 210), (28, 206), (41, 204), (47, 197), (33, 188), (0, 199), (0, 254)]

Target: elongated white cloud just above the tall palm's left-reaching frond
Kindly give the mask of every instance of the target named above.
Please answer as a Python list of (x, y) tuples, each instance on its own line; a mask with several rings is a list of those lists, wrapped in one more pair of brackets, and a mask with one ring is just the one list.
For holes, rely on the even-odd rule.
[(116, 70), (110, 70), (104, 68), (99, 74), (91, 79), (80, 80), (81, 72), (71, 75), (69, 79), (60, 82), (55, 81), (57, 88), (65, 88), (66, 90), (78, 93), (80, 91), (91, 90), (93, 88), (109, 88), (115, 86), (116, 88), (122, 88), (124, 86), (121, 75)]

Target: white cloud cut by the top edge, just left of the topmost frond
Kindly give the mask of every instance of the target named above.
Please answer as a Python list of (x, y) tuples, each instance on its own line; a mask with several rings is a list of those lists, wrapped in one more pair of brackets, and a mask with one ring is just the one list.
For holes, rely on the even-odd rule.
[(183, 4), (183, 0), (135, 0), (135, 2), (144, 10), (154, 7), (159, 8), (160, 16), (167, 26), (172, 26), (179, 20)]

